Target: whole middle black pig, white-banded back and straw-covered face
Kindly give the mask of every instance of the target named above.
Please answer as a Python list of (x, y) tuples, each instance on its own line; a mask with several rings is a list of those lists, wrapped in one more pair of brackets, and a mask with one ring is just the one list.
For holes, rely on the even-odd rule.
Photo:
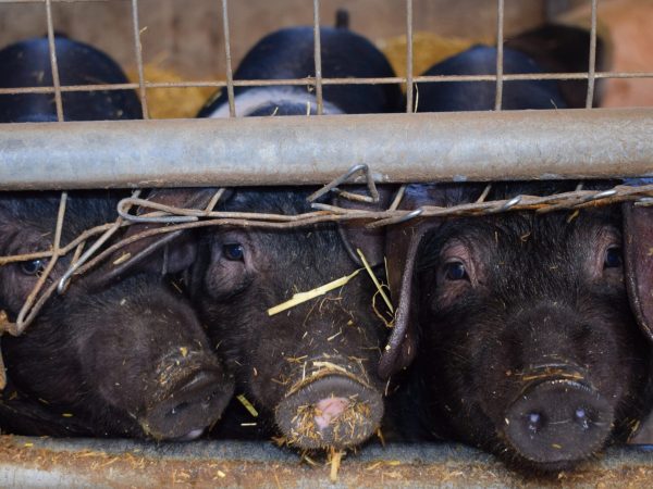
[[(394, 76), (372, 43), (345, 28), (321, 28), (321, 42), (324, 76)], [(259, 41), (235, 78), (303, 78), (313, 70), (312, 29), (294, 27)], [(399, 99), (395, 85), (325, 86), (324, 112), (389, 112)], [(304, 115), (315, 113), (317, 103), (306, 87), (242, 88), (235, 102), (237, 115)], [(200, 112), (227, 114), (224, 93)], [(308, 195), (243, 188), (222, 199), (219, 209), (298, 214), (310, 212)], [(178, 192), (159, 196), (159, 201), (167, 199), (177, 200)], [(374, 365), (385, 328), (372, 310), (375, 289), (365, 272), (342, 290), (268, 314), (295, 292), (358, 268), (350, 240), (372, 265), (382, 263), (382, 253), (374, 252), (382, 247), (380, 237), (355, 227), (212, 227), (201, 237), (190, 273), (190, 294), (219, 354), (234, 369), (237, 388), (259, 406), (258, 423), (276, 426), (303, 449), (356, 446), (377, 430), (383, 414), (383, 386)]]

